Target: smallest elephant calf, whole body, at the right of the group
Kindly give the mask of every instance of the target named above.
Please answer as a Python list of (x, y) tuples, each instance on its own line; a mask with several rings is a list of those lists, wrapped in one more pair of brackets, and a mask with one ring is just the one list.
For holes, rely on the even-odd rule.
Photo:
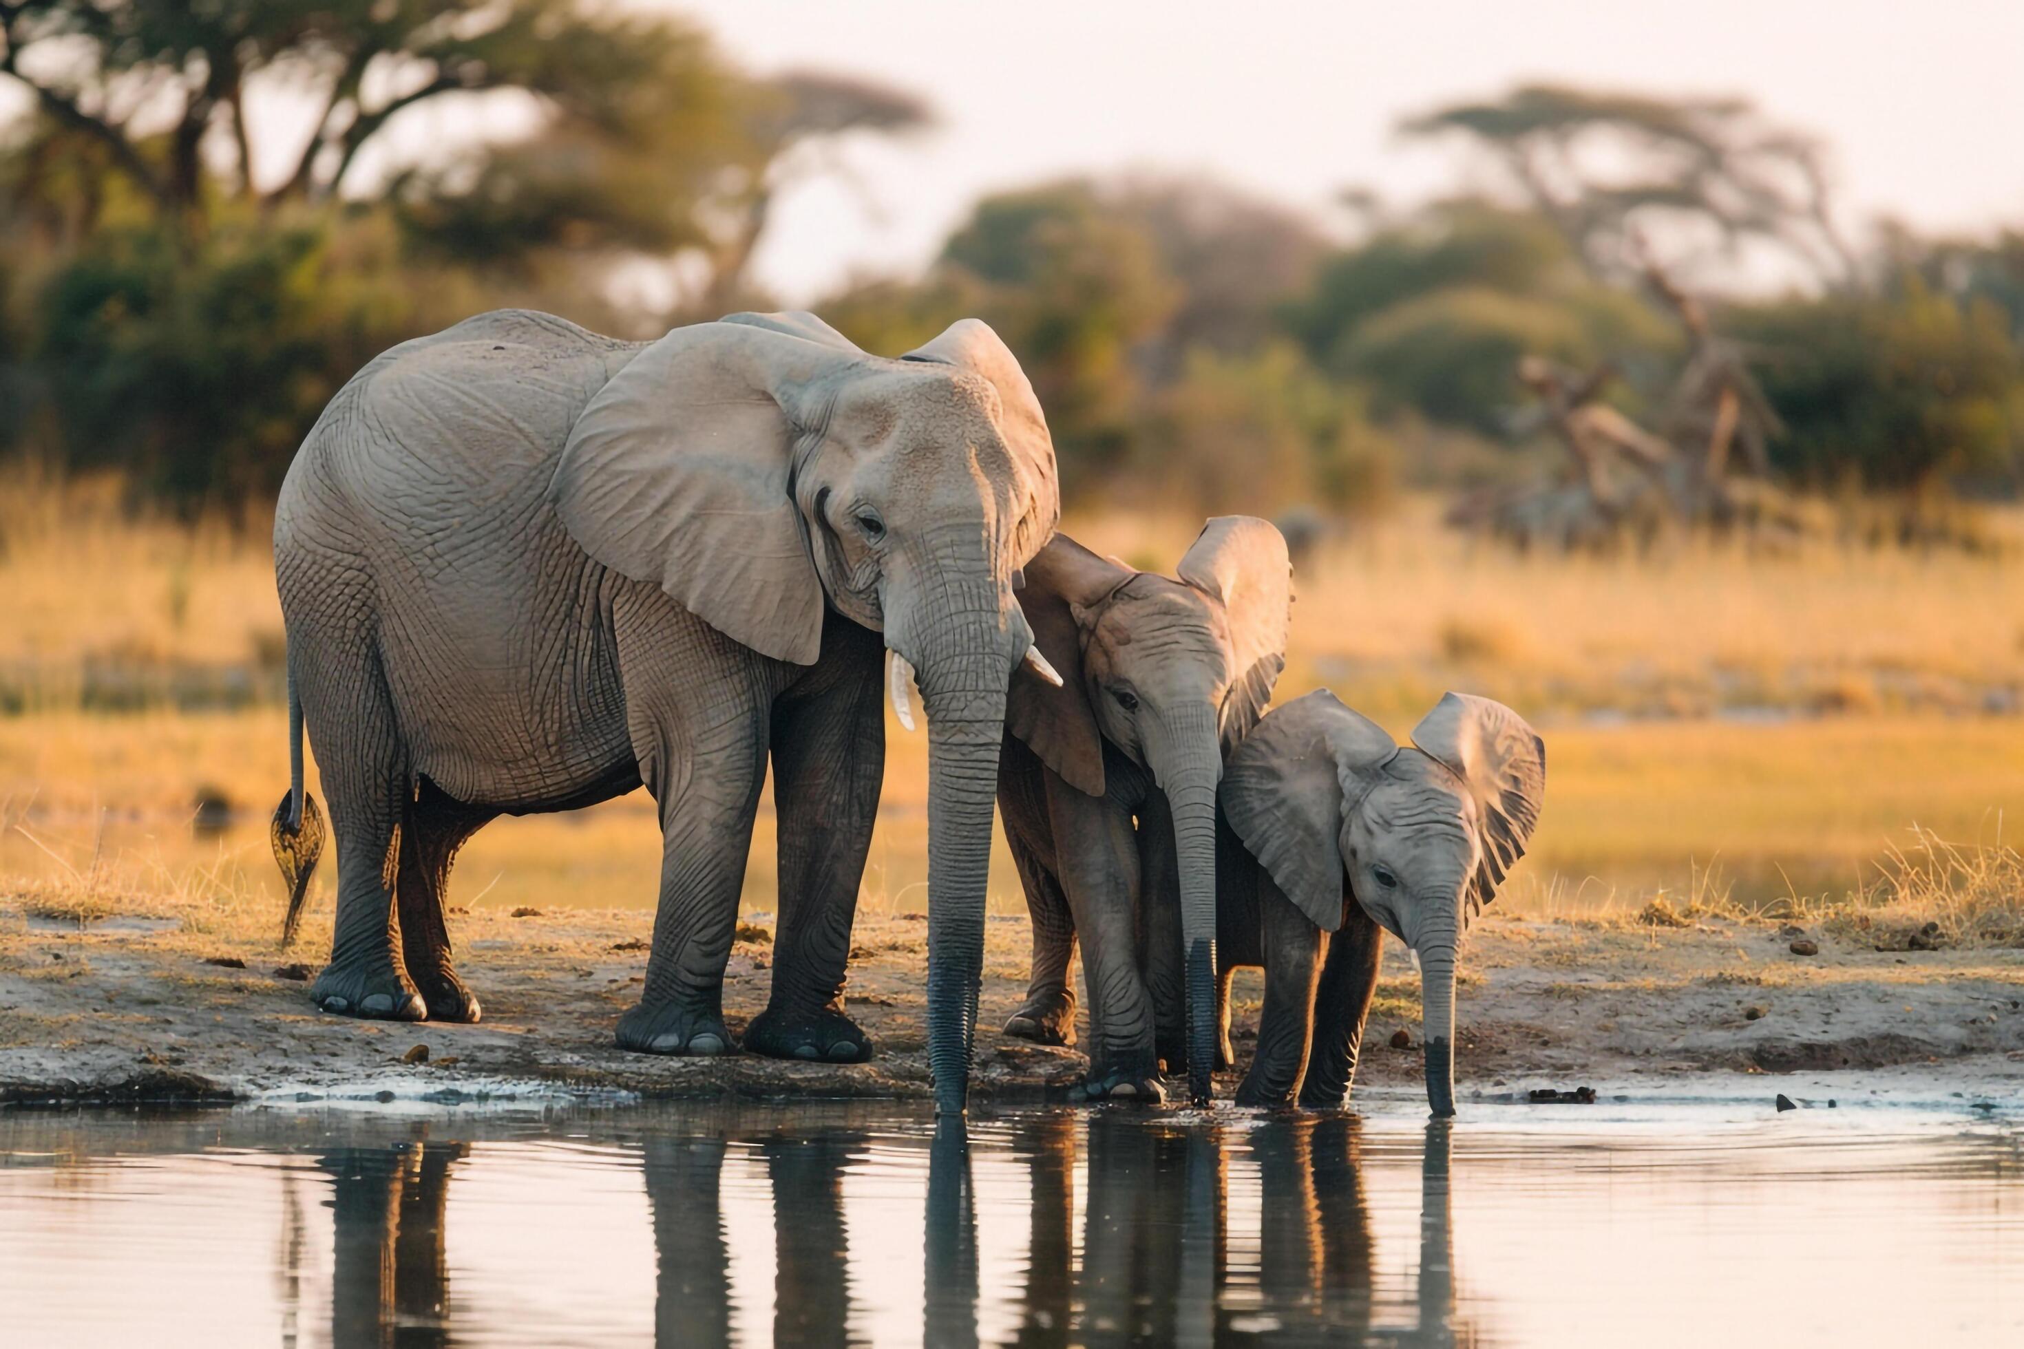
[(1328, 690), (1257, 724), (1222, 777), (1222, 963), (1265, 967), (1239, 1104), (1342, 1102), (1390, 932), (1419, 957), (1427, 1102), (1455, 1112), (1455, 951), (1544, 793), (1544, 742), (1488, 698), (1447, 694), (1411, 746)]

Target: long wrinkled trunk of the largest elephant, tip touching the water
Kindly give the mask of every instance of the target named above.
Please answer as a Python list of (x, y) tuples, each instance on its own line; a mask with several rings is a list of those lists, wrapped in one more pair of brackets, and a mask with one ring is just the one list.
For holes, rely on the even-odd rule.
[(961, 1114), (984, 975), (992, 809), (1012, 655), (994, 629), (921, 663), (927, 704), (927, 1066), (935, 1110)]

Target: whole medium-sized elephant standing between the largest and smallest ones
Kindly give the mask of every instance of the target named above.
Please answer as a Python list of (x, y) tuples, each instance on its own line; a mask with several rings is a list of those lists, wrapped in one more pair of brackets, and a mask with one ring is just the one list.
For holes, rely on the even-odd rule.
[[(1032, 985), (1006, 1033), (1073, 1042), (1081, 938), (1091, 1096), (1158, 1098), (1166, 1058), (1190, 1068), (1194, 1100), (1208, 1098), (1216, 783), (1285, 665), (1291, 582), (1271, 524), (1210, 520), (1176, 574), (1055, 536), (1020, 591), (1063, 686), (1030, 669), (1012, 678), (998, 803), (1034, 938)], [(1156, 1005), (1174, 1015), (1156, 1019)]]

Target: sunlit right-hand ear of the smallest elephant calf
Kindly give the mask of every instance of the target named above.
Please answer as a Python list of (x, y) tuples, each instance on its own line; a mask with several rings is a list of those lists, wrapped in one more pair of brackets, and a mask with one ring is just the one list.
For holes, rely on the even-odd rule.
[(1447, 694), (1413, 728), (1413, 744), (1441, 760), (1475, 797), (1482, 862), (1469, 912), (1482, 912), (1518, 866), (1546, 803), (1546, 742), (1502, 702)]

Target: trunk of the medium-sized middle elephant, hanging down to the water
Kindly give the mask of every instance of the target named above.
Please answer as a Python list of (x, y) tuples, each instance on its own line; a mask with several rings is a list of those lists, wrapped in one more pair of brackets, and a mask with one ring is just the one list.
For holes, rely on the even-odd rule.
[(1174, 815), (1180, 947), (1188, 991), (1188, 1100), (1208, 1104), (1216, 1066), (1216, 783), (1222, 746), (1210, 708), (1166, 718), (1148, 758)]

